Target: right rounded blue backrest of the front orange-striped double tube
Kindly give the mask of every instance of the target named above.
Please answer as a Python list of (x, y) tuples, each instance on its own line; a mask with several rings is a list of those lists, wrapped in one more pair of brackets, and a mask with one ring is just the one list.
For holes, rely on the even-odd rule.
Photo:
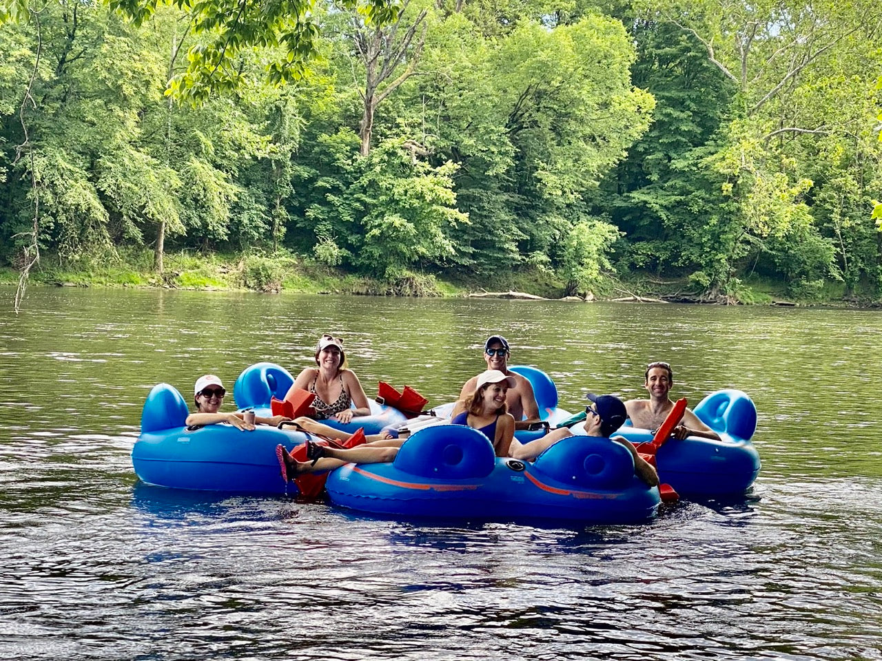
[(631, 484), (634, 457), (608, 438), (572, 436), (542, 452), (533, 468), (564, 484), (610, 491)]

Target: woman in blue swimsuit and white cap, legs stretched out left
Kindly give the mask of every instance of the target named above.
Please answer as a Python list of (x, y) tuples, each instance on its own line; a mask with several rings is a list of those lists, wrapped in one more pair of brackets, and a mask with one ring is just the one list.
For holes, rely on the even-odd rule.
[[(505, 394), (513, 387), (514, 379), (498, 369), (489, 369), (478, 376), (471, 397), (453, 407), (451, 424), (467, 425), (482, 432), (493, 443), (497, 457), (507, 457), (514, 438), (514, 418), (505, 411)], [(286, 479), (303, 472), (331, 471), (343, 464), (381, 464), (390, 462), (398, 454), (404, 439), (389, 439), (366, 443), (353, 449), (337, 449), (315, 445), (307, 441), (310, 462), (298, 462), (283, 447), (276, 449), (276, 457)]]

